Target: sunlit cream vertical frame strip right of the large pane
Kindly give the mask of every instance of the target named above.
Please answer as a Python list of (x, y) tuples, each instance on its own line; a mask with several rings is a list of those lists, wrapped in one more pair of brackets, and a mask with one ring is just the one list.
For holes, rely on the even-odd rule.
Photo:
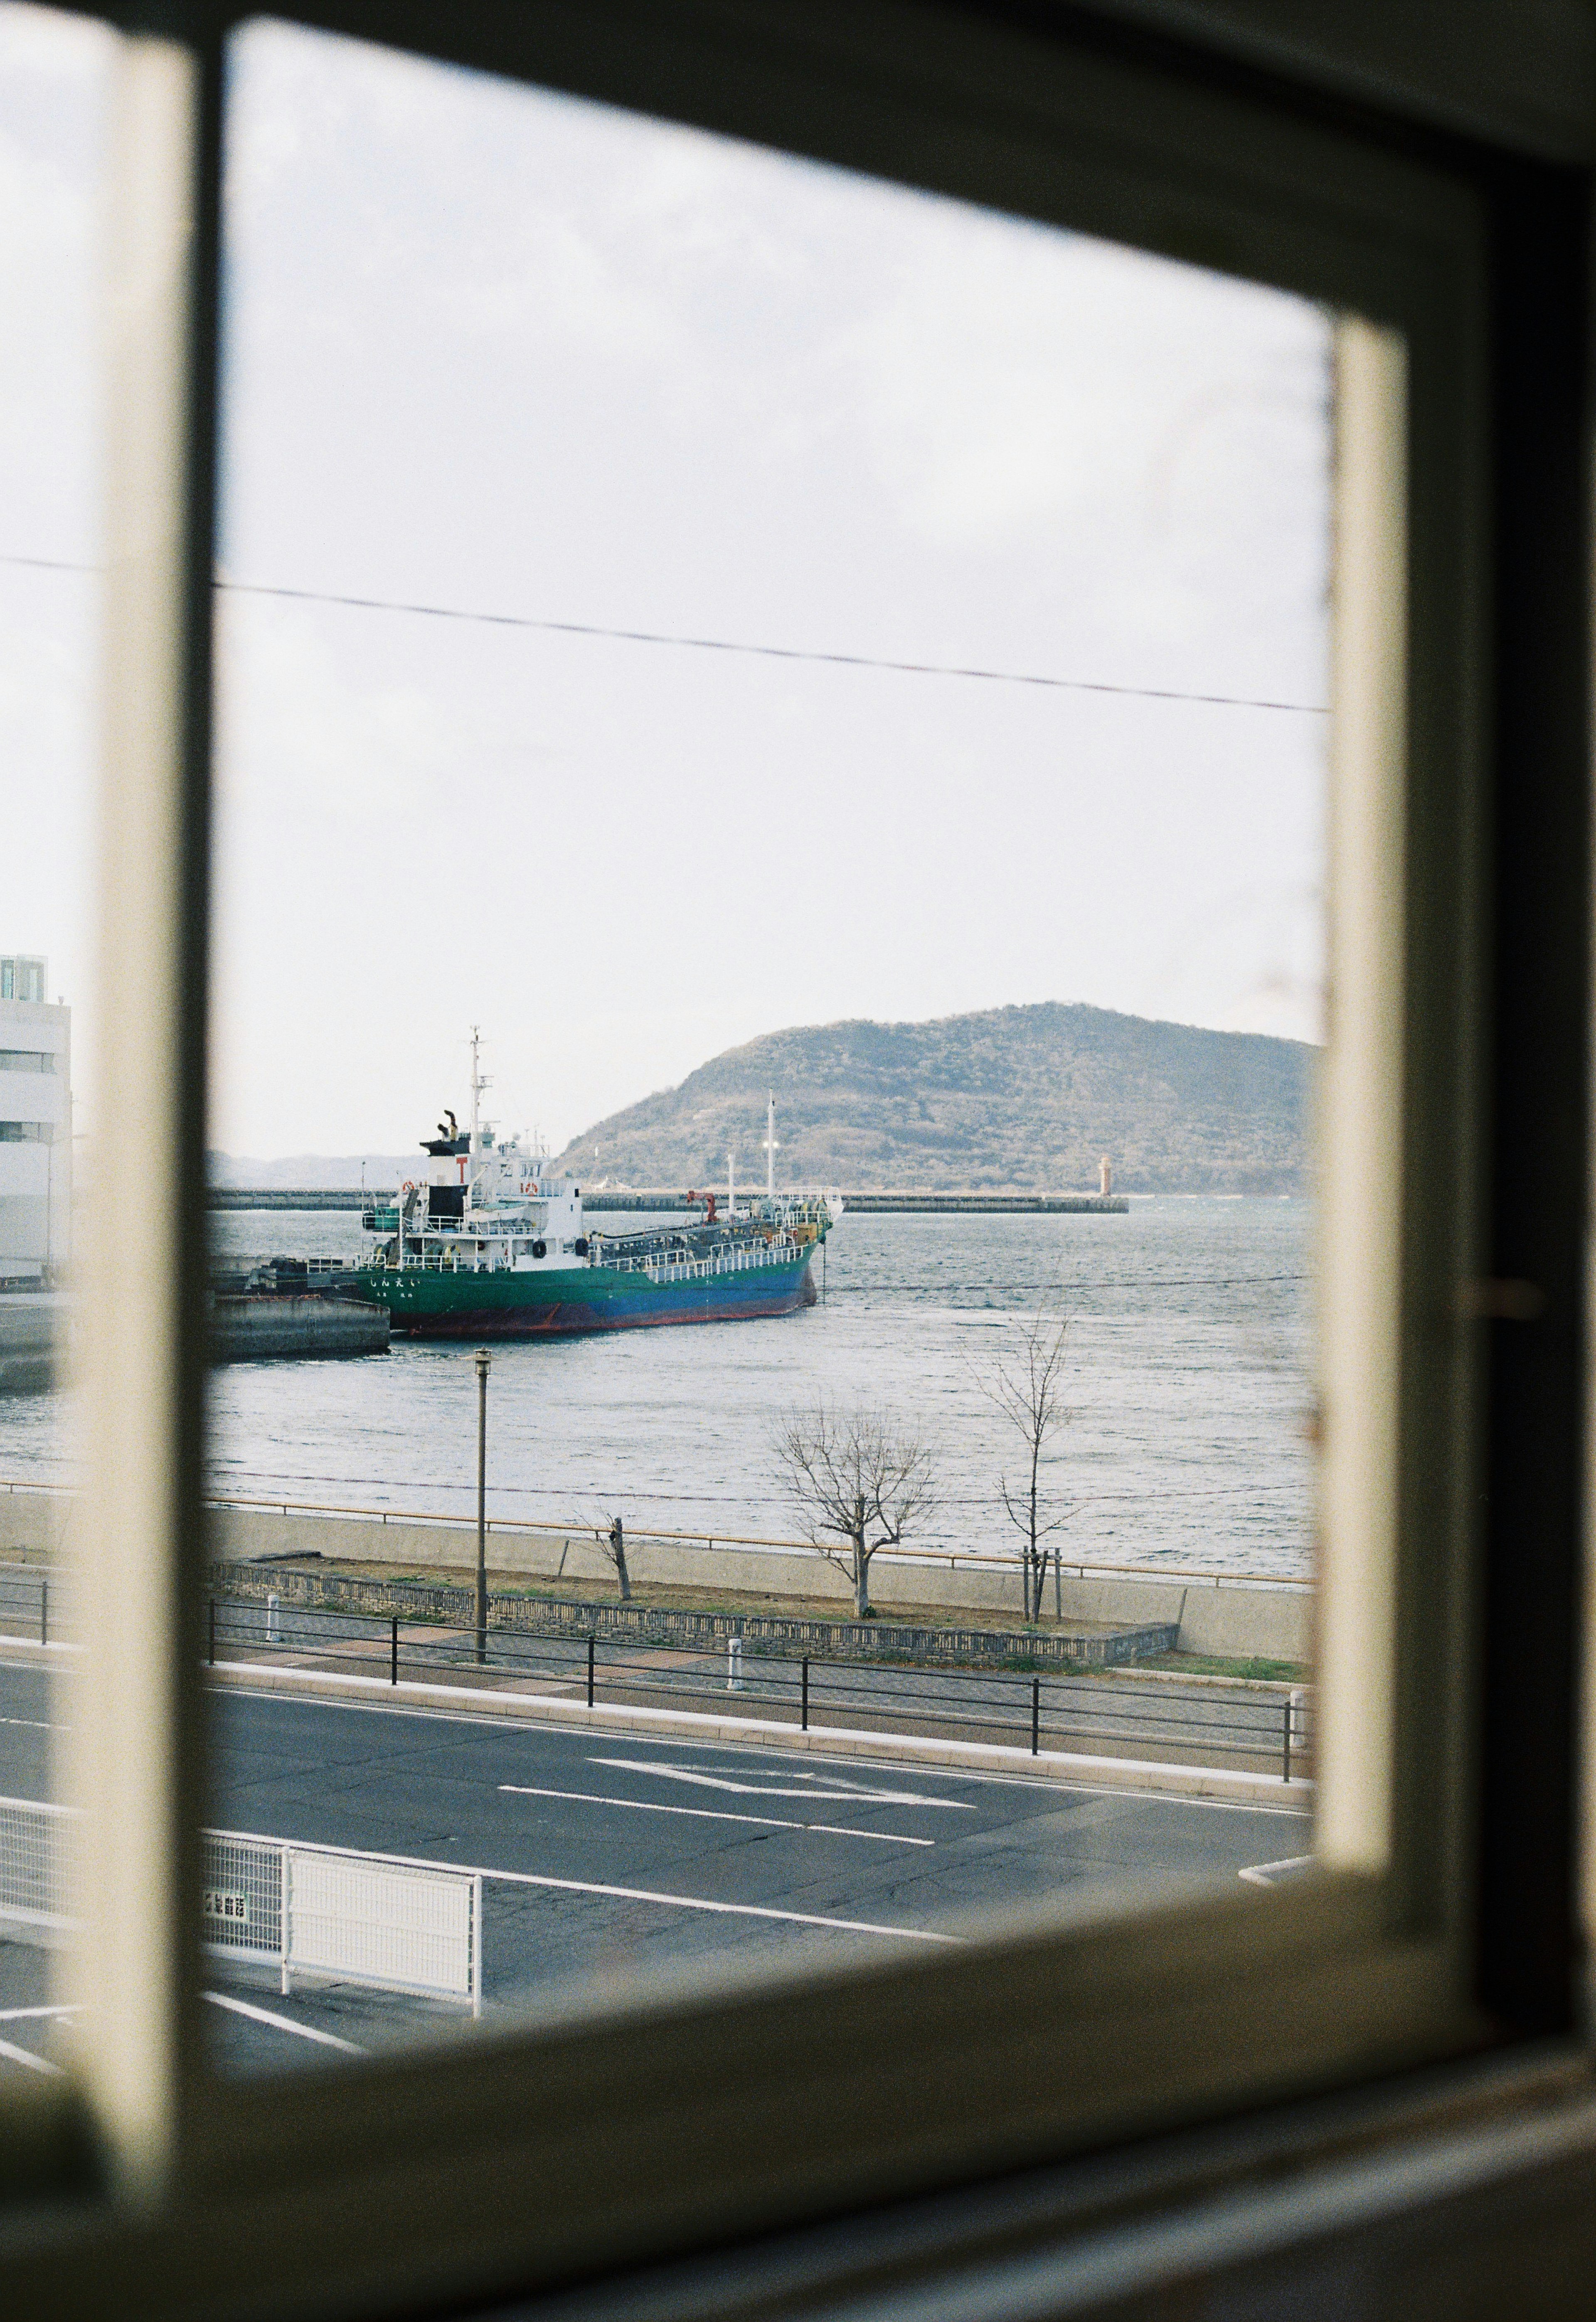
[(1396, 1746), (1408, 362), (1336, 332), (1329, 1045), (1320, 1084), (1317, 1846), (1385, 1869)]

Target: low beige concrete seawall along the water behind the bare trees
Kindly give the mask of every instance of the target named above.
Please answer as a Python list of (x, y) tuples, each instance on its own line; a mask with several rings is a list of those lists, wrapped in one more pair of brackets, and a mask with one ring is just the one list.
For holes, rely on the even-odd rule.
[[(56, 1493), (0, 1493), (0, 1558), (46, 1556), (70, 1542), (72, 1500)], [(404, 1572), (460, 1572), (476, 1560), (472, 1523), (420, 1523), (411, 1519), (332, 1516), (318, 1509), (214, 1507), (211, 1558), (321, 1556), (328, 1563), (381, 1563)], [(692, 1539), (632, 1535), (632, 1577), (662, 1588), (702, 1591), (718, 1600), (813, 1598), (848, 1611), (850, 1588), (836, 1565), (813, 1549), (706, 1546)], [(497, 1581), (597, 1581), (613, 1586), (609, 1558), (590, 1533), (544, 1533), (495, 1523), (488, 1533), (488, 1570)], [(959, 1565), (908, 1563), (878, 1556), (871, 1565), (871, 1602), (883, 1614), (1001, 1614), (1020, 1611), (1020, 1572)], [(1055, 1607), (1052, 1579), (1045, 1595)], [(1066, 1621), (1108, 1625), (1176, 1623), (1182, 1653), (1224, 1660), (1313, 1660), (1313, 1588), (1296, 1581), (1231, 1581), (1148, 1574), (1064, 1574)]]

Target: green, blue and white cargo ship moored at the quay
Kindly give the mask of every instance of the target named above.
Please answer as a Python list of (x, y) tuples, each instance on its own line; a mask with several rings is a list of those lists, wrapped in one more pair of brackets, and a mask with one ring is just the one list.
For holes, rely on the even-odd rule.
[[(472, 1040), (472, 1126), (453, 1112), (416, 1177), (362, 1214), (374, 1238), (355, 1291), (388, 1307), (409, 1337), (576, 1337), (678, 1321), (750, 1321), (815, 1303), (811, 1265), (841, 1217), (836, 1194), (767, 1191), (739, 1205), (690, 1194), (683, 1226), (588, 1231), (581, 1187), (544, 1154), (497, 1142), (479, 1124)], [(774, 1098), (767, 1147), (774, 1163)], [(774, 1168), (769, 1173), (774, 1177)]]

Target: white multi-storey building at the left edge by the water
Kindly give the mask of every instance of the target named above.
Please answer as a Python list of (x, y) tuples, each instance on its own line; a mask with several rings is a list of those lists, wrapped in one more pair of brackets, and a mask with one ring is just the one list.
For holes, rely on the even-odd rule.
[(72, 1010), (44, 959), (0, 952), (0, 1279), (60, 1279), (72, 1249)]

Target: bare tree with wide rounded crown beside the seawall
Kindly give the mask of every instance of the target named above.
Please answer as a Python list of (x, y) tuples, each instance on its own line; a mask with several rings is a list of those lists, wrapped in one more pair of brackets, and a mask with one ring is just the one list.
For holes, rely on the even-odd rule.
[(876, 1549), (897, 1546), (936, 1505), (929, 1451), (885, 1412), (834, 1412), (820, 1398), (781, 1423), (776, 1463), (808, 1539), (848, 1574), (864, 1618)]

